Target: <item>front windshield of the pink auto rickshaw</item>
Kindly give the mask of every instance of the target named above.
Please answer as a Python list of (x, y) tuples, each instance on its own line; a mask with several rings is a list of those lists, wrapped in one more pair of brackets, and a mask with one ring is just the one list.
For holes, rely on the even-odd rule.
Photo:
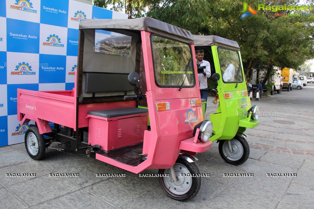
[(195, 85), (191, 48), (171, 39), (153, 35), (151, 38), (155, 82), (162, 87)]

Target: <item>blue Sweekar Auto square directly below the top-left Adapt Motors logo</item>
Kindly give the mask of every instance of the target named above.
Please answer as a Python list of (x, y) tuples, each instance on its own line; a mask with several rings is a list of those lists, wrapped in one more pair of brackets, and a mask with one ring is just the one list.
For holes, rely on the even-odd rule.
[(7, 18), (7, 51), (39, 53), (39, 23)]

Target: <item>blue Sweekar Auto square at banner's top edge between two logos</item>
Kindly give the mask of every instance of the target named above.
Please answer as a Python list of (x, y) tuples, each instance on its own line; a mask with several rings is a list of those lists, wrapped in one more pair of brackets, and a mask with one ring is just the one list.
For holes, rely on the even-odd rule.
[(69, 2), (41, 0), (40, 23), (68, 27)]

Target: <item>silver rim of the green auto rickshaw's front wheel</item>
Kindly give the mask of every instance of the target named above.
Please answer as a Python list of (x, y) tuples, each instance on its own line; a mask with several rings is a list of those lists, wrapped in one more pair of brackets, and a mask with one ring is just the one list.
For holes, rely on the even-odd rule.
[(225, 140), (223, 144), (222, 152), (224, 156), (231, 161), (236, 161), (236, 160), (241, 159), (241, 157), (243, 156), (242, 144), (236, 139), (231, 139), (230, 142), (231, 142), (231, 147), (232, 147), (231, 152), (229, 151), (227, 140)]

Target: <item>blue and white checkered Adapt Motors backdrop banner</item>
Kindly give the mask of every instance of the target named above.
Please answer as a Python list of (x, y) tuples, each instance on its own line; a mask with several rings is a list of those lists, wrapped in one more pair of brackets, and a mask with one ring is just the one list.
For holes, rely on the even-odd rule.
[(83, 19), (127, 14), (72, 0), (0, 0), (0, 147), (24, 142), (17, 88), (72, 90)]

